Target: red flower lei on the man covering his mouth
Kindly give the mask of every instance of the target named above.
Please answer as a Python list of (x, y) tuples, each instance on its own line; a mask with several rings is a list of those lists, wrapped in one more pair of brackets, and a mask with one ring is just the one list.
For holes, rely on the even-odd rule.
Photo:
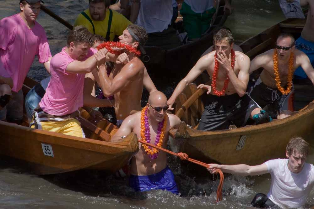
[[(225, 94), (225, 91), (226, 91), (228, 84), (229, 84), (229, 76), (228, 75), (226, 76), (226, 80), (224, 82), (224, 87), (222, 88), (222, 90), (218, 91), (216, 89), (216, 80), (217, 80), (217, 75), (218, 75), (219, 63), (216, 59), (217, 58), (216, 53), (214, 55), (214, 58), (215, 58), (215, 68), (214, 68), (214, 72), (213, 72), (213, 76), (212, 76), (212, 89), (213, 89), (214, 94), (220, 97), (220, 96)], [(236, 53), (233, 49), (231, 49), (231, 67), (232, 67), (232, 70), (234, 70), (234, 68), (235, 68), (235, 62), (236, 62)]]

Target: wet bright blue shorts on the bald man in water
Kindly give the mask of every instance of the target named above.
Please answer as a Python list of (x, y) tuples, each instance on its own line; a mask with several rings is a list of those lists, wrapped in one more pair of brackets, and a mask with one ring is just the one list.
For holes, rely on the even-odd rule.
[(175, 177), (168, 166), (153, 175), (130, 175), (129, 184), (135, 191), (161, 189), (175, 194), (179, 193)]

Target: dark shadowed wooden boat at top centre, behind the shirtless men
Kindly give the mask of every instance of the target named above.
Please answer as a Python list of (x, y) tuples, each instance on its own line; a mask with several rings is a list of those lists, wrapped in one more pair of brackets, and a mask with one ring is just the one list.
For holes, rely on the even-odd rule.
[[(177, 0), (177, 2), (180, 9), (180, 3), (183, 1)], [(230, 14), (228, 9), (224, 11), (224, 6), (225, 2), (222, 0), (210, 28), (197, 41), (192, 41), (170, 50), (162, 50), (157, 46), (145, 46), (146, 55), (142, 56), (142, 60), (149, 71), (149, 75), (153, 78), (160, 78), (160, 71), (176, 77), (180, 74), (185, 75), (203, 52), (213, 45), (213, 29), (222, 26)], [(177, 20), (181, 19), (182, 17), (179, 15)]]

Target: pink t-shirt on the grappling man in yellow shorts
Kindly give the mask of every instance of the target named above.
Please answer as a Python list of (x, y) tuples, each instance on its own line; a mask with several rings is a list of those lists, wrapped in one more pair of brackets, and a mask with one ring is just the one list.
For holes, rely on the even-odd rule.
[[(46, 89), (45, 96), (39, 106), (51, 115), (67, 115), (83, 107), (83, 87), (85, 73), (67, 73), (68, 64), (76, 61), (65, 51), (66, 47), (50, 62), (51, 79)], [(90, 48), (86, 60), (94, 55), (97, 50)]]

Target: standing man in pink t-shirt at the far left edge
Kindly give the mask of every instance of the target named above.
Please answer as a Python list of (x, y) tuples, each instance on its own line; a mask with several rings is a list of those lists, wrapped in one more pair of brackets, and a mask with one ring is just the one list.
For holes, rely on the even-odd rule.
[(13, 81), (11, 100), (6, 100), (8, 105), (0, 111), (0, 120), (21, 122), (21, 89), (35, 55), (49, 72), (51, 53), (46, 33), (36, 22), (41, 2), (43, 1), (20, 1), (20, 12), (0, 21), (0, 76), (7, 79), (10, 77)]

